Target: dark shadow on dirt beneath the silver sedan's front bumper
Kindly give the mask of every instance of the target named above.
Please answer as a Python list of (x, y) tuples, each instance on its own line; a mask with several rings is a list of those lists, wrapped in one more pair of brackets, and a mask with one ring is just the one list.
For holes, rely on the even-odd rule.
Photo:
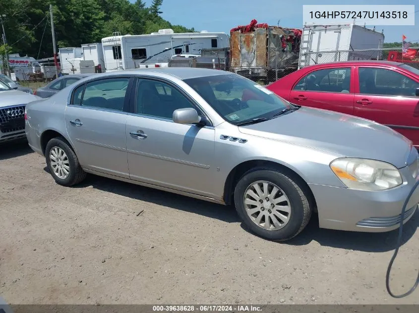
[[(400, 208), (402, 210), (402, 208)], [(409, 241), (419, 228), (419, 210), (403, 225), (403, 244)], [(285, 244), (303, 246), (317, 241), (322, 246), (358, 250), (364, 252), (386, 252), (394, 250), (399, 230), (389, 232), (355, 232), (319, 228), (318, 217), (313, 215), (307, 227)]]

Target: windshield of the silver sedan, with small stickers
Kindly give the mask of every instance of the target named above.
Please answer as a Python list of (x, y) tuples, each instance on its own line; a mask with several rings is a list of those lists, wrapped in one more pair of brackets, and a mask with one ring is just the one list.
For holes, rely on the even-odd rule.
[(184, 80), (232, 124), (273, 115), (294, 106), (272, 91), (236, 74)]

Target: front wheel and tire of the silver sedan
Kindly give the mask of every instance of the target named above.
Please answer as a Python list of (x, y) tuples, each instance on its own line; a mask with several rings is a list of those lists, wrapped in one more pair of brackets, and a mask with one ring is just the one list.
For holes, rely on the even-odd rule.
[[(253, 233), (269, 240), (286, 241), (297, 236), (308, 224), (312, 211), (308, 195), (303, 191), (306, 189), (298, 181), (294, 175), (270, 168), (253, 169), (245, 173), (234, 191), (236, 210), (243, 223)], [(259, 193), (254, 186), (258, 183), (260, 191), (266, 191), (263, 182), (268, 183), (268, 192), (257, 199), (254, 196), (259, 196)], [(273, 187), (277, 187), (278, 191), (273, 191)], [(266, 201), (265, 195), (268, 195), (269, 201)], [(247, 204), (244, 203), (245, 199)], [(263, 203), (260, 203), (260, 200)], [(289, 213), (282, 210), (288, 210)], [(253, 215), (248, 214), (254, 211), (256, 212)], [(259, 214), (263, 214), (264, 217), (259, 219)], [(261, 223), (263, 221), (264, 223)]]

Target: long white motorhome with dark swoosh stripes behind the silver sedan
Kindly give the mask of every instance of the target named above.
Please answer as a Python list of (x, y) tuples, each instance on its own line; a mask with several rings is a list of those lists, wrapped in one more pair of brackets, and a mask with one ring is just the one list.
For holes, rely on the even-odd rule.
[(161, 29), (148, 35), (114, 33), (102, 39), (107, 72), (149, 66), (166, 67), (174, 55), (201, 54), (203, 48), (230, 47), (226, 33), (174, 33)]

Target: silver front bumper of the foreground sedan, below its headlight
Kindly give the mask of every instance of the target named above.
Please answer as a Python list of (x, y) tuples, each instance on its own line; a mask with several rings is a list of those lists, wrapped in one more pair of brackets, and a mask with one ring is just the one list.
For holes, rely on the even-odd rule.
[[(419, 176), (412, 169), (400, 169), (403, 184), (383, 191), (309, 184), (316, 200), (320, 228), (349, 231), (384, 232), (397, 229), (404, 202)], [(406, 207), (404, 223), (415, 214), (419, 203), (419, 187)]]

